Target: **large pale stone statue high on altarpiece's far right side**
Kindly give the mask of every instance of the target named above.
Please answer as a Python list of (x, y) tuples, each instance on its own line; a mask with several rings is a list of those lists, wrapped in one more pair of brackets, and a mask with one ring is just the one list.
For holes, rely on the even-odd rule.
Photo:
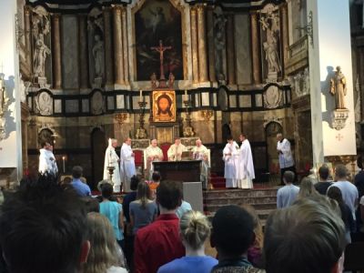
[(266, 33), (266, 41), (263, 43), (263, 49), (266, 53), (268, 63), (268, 77), (274, 76), (282, 70), (278, 55), (278, 39), (279, 39), (279, 17), (275, 13), (274, 5), (267, 5), (263, 10), (259, 23), (262, 30)]

